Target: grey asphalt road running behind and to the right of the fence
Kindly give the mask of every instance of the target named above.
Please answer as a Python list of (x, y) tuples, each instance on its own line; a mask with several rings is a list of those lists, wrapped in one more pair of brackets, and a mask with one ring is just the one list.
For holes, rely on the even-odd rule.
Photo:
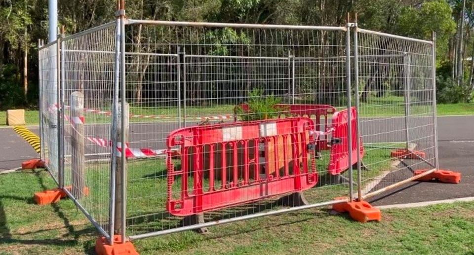
[[(411, 119), (410, 124), (416, 125), (417, 122), (420, 123), (419, 121), (423, 120)], [(188, 123), (188, 125), (194, 124), (196, 123)], [(130, 147), (163, 149), (166, 136), (176, 128), (178, 128), (177, 122), (130, 123)], [(360, 128), (362, 132), (366, 129), (370, 131), (369, 133), (379, 134), (364, 137), (364, 143), (394, 141), (395, 138), (398, 141), (405, 139), (404, 121), (400, 118), (366, 119), (361, 122)], [(39, 132), (37, 127), (32, 127), (30, 130), (37, 134)], [(86, 125), (85, 130), (86, 136), (107, 138), (109, 127)], [(415, 135), (413, 132), (429, 131), (420, 128), (411, 130), (409, 135)], [(4, 144), (0, 149), (2, 151), (0, 171), (20, 167), (22, 161), (38, 158), (36, 151), (11, 128), (0, 128), (0, 140)], [(438, 117), (438, 146), (440, 168), (461, 172), (461, 183), (410, 182), (373, 197), (369, 199), (369, 202), (374, 205), (386, 205), (474, 196), (474, 116)], [(93, 154), (108, 151), (108, 148), (94, 146), (91, 143), (86, 146), (86, 153), (90, 154), (87, 156), (88, 159), (101, 157)]]

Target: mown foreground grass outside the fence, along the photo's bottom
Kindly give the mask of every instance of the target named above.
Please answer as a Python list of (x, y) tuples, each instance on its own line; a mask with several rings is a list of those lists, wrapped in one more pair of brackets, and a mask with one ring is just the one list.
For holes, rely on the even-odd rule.
[[(0, 254), (93, 254), (97, 232), (70, 200), (37, 206), (54, 187), (45, 171), (0, 175)], [(472, 254), (474, 202), (385, 210), (382, 222), (311, 209), (138, 240), (152, 254)]]

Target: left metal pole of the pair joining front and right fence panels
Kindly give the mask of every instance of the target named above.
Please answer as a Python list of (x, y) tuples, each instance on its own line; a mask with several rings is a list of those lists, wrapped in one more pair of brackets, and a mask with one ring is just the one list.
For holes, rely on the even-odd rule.
[(347, 94), (347, 151), (349, 167), (349, 201), (354, 200), (353, 178), (352, 178), (352, 119), (351, 119), (351, 26), (349, 15), (346, 31), (346, 94)]

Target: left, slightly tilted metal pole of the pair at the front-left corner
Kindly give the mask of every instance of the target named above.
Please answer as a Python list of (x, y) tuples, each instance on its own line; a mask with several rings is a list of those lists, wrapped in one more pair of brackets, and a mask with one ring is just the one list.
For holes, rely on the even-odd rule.
[[(119, 8), (117, 8), (119, 9)], [(118, 14), (118, 13), (117, 13)], [(120, 83), (120, 18), (118, 17), (116, 20), (116, 28), (115, 28), (115, 67), (114, 67), (114, 98), (112, 101), (112, 127), (111, 127), (111, 141), (112, 147), (110, 149), (110, 212), (109, 212), (109, 233), (110, 236), (114, 236), (115, 231), (115, 175), (117, 171), (117, 114), (118, 114), (118, 90), (119, 90), (119, 83)], [(110, 245), (114, 245), (114, 238), (109, 238)]]

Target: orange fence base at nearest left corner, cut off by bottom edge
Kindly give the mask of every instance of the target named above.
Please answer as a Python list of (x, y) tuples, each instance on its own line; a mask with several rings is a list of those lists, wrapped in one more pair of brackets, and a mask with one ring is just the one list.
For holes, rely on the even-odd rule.
[(122, 236), (114, 235), (114, 245), (109, 245), (109, 240), (101, 236), (95, 242), (97, 255), (139, 255), (130, 242), (121, 243)]

